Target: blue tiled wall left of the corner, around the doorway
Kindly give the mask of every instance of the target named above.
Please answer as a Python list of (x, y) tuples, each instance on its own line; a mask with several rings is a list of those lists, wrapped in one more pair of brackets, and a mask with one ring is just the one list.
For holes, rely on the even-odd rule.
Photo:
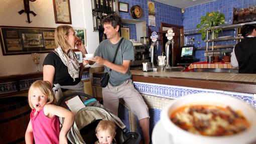
[[(161, 23), (173, 24), (173, 25), (178, 25), (178, 26), (183, 25), (183, 15), (181, 13), (180, 8), (152, 1), (155, 3), (155, 10), (156, 10), (156, 16), (155, 16), (156, 17), (156, 27), (154, 27), (154, 26), (149, 26), (148, 0), (139, 0), (139, 1), (119, 0), (119, 2), (129, 4), (129, 13), (119, 12), (119, 16), (122, 19), (127, 19), (127, 20), (134, 19), (130, 14), (130, 10), (133, 6), (139, 5), (143, 9), (143, 16), (137, 20), (146, 21), (147, 28), (149, 27), (151, 29), (151, 31), (159, 32)], [(132, 26), (132, 27), (134, 27), (134, 26)], [(133, 29), (133, 30), (135, 30), (135, 29)], [(148, 29), (147, 29), (147, 31), (148, 31)], [(130, 33), (131, 33), (131, 39), (137, 38), (136, 31), (131, 31), (131, 28), (130, 28)], [(148, 33), (147, 33), (147, 36), (148, 36)], [(159, 48), (156, 50), (156, 55), (162, 55), (161, 45), (159, 45)]]

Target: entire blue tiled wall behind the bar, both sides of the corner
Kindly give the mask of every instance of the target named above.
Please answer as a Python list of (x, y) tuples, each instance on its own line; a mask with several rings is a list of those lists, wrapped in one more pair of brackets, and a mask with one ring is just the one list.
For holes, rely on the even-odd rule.
[[(168, 6), (166, 4), (162, 4), (159, 2), (155, 2), (156, 9), (156, 27), (148, 26), (149, 14), (148, 14), (148, 1), (140, 0), (140, 1), (128, 1), (128, 0), (120, 0), (119, 2), (124, 2), (129, 4), (129, 13), (119, 12), (119, 16), (122, 19), (133, 20), (133, 17), (130, 14), (130, 9), (134, 5), (139, 5), (143, 9), (143, 16), (138, 19), (140, 21), (146, 21), (147, 27), (149, 27), (152, 31), (159, 32), (161, 23), (173, 24), (178, 26), (184, 26), (184, 31), (196, 29), (196, 25), (200, 23), (200, 18), (205, 16), (207, 12), (219, 11), (225, 15), (226, 24), (229, 25), (232, 23), (232, 9), (233, 8), (248, 8), (249, 6), (256, 5), (256, 0), (217, 0), (214, 2), (209, 2), (206, 4), (201, 4), (193, 7), (189, 7), (185, 9), (185, 13), (181, 14), (181, 9)], [(137, 39), (136, 36), (136, 26), (132, 24), (125, 24), (125, 26), (130, 27), (131, 39)], [(219, 34), (219, 36), (230, 36), (234, 34), (234, 30), (224, 31)], [(147, 34), (148, 35), (148, 34)], [(195, 38), (195, 47), (205, 47), (206, 44), (201, 40), (201, 35), (189, 35), (187, 39), (190, 37)], [(185, 37), (186, 44), (186, 37)], [(215, 42), (214, 45), (234, 45), (235, 41), (221, 41)], [(210, 43), (211, 45), (211, 43)], [(156, 55), (161, 55), (162, 49), (161, 45), (159, 45), (159, 49), (156, 50)], [(204, 60), (204, 50), (197, 50), (195, 52), (195, 58)]]

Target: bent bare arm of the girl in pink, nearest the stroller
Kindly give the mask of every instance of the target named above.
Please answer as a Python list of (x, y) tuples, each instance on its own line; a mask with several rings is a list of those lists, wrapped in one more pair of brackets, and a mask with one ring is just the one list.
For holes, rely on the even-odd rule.
[(74, 114), (64, 107), (53, 105), (53, 104), (46, 104), (44, 106), (44, 113), (49, 118), (53, 117), (54, 115), (65, 118), (63, 126), (60, 130), (59, 140), (60, 140), (60, 143), (67, 143), (66, 135), (70, 127), (73, 125)]

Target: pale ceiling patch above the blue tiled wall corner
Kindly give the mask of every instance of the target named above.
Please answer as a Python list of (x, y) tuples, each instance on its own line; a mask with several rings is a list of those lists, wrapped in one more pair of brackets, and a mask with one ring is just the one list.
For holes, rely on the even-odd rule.
[(216, 0), (155, 0), (156, 2), (167, 4), (178, 8), (188, 8)]

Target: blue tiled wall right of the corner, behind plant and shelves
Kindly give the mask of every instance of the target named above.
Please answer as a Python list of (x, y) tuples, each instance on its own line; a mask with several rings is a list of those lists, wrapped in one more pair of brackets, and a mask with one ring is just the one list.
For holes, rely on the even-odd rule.
[[(233, 8), (248, 8), (250, 6), (256, 5), (256, 0), (217, 0), (214, 2), (209, 2), (206, 4), (201, 4), (193, 7), (189, 7), (185, 9), (185, 13), (183, 14), (183, 26), (184, 31), (194, 30), (196, 29), (196, 25), (200, 23), (200, 18), (205, 16), (207, 12), (216, 12), (219, 11), (225, 15), (225, 22), (227, 25), (232, 23), (233, 19)], [(220, 33), (219, 36), (230, 36), (234, 35), (234, 30), (224, 31)], [(190, 37), (195, 38), (195, 46), (196, 47), (205, 47), (205, 42), (201, 41), (201, 35), (189, 35), (187, 39)], [(186, 37), (185, 37), (186, 43)], [(199, 44), (198, 44), (199, 42)], [(214, 45), (234, 45), (235, 41), (221, 41), (216, 42)], [(211, 43), (210, 43), (211, 45)], [(195, 58), (204, 60), (204, 50), (197, 50), (195, 52)]]

